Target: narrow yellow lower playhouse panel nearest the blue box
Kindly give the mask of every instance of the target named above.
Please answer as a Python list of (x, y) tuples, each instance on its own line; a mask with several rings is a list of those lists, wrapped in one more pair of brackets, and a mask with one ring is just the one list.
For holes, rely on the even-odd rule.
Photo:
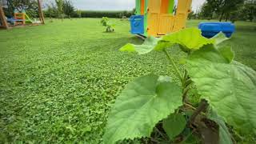
[(148, 14), (147, 34), (157, 36), (158, 34), (158, 14)]

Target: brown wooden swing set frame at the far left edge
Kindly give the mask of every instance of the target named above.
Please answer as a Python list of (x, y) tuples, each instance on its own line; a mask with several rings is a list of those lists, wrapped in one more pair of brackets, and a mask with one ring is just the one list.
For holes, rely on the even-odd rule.
[[(38, 14), (39, 14), (39, 19), (40, 19), (40, 24), (45, 24), (45, 18), (44, 18), (44, 15), (42, 13), (42, 4), (41, 4), (41, 0), (38, 0)], [(9, 26), (8, 25), (8, 22), (6, 20), (6, 15), (2, 9), (2, 5), (0, 4), (0, 22), (1, 22), (1, 26), (0, 28), (2, 29), (10, 29), (11, 27), (13, 26)], [(22, 26), (38, 26), (39, 24), (29, 24), (29, 25), (22, 25)]]

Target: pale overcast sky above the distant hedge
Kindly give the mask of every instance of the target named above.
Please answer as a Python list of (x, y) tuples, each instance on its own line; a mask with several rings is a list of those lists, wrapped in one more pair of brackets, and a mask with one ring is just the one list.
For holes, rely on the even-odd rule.
[[(50, 1), (50, 0), (45, 0)], [(71, 0), (79, 10), (132, 10), (135, 0)], [(192, 9), (197, 10), (206, 0), (192, 0)]]

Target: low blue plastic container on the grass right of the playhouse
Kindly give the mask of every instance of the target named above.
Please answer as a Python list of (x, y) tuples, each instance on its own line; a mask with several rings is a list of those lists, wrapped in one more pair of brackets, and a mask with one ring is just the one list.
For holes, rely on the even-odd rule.
[(206, 38), (212, 38), (221, 31), (230, 38), (235, 30), (231, 22), (201, 22), (198, 28), (202, 31), (202, 36)]

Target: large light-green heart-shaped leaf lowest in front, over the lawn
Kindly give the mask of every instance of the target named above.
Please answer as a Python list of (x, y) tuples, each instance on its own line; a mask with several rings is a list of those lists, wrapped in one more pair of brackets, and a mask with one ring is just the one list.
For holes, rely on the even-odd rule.
[(128, 84), (112, 108), (103, 140), (150, 137), (156, 123), (182, 106), (182, 89), (166, 77), (150, 74)]

